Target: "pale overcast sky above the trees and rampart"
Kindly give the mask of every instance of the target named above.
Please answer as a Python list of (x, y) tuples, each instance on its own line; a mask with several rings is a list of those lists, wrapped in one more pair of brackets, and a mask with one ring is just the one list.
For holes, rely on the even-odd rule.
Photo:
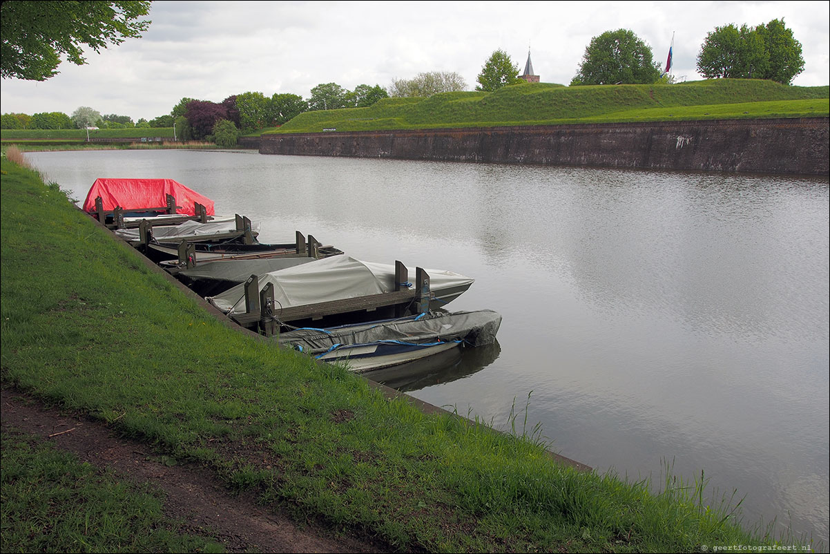
[(221, 102), (242, 92), (303, 98), (321, 83), (388, 87), (422, 71), (457, 71), (468, 90), (491, 53), (523, 69), (530, 48), (542, 82), (567, 85), (593, 37), (630, 29), (672, 73), (700, 80), (706, 33), (784, 18), (802, 44), (798, 86), (830, 84), (830, 2), (153, 2), (152, 23), (85, 66), (64, 61), (47, 81), (2, 80), (2, 113), (79, 106), (133, 120), (165, 115), (183, 97)]

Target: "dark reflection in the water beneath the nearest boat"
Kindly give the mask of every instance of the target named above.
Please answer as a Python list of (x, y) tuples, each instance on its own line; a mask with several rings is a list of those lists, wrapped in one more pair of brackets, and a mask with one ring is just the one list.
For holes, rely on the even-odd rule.
[(496, 341), (476, 348), (453, 348), (422, 360), (369, 371), (364, 375), (401, 392), (413, 392), (465, 379), (491, 365), (500, 353), (501, 346)]

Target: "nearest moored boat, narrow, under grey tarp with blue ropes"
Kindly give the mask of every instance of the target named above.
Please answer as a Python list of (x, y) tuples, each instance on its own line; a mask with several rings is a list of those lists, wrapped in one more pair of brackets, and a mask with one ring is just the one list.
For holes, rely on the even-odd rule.
[(485, 346), (496, 341), (501, 316), (492, 310), (429, 312), (393, 320), (370, 321), (326, 329), (303, 328), (281, 333), (280, 346), (317, 360), (344, 361), (364, 372), (436, 355), (457, 346)]

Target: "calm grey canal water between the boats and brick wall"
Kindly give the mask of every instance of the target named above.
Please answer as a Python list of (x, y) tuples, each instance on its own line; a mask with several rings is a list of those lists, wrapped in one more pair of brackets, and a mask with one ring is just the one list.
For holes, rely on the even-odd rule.
[[(394, 385), (600, 471), (710, 478), (828, 542), (828, 182), (251, 152), (27, 154), (83, 200), (170, 178), (374, 262), (476, 278), (499, 345)], [(530, 398), (530, 400), (528, 400)], [(520, 429), (519, 429), (520, 430)]]

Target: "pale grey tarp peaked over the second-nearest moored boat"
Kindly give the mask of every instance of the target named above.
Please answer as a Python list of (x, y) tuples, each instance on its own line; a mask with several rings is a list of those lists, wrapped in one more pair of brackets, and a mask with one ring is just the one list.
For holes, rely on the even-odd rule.
[[(446, 297), (443, 302), (450, 302), (474, 281), (470, 277), (440, 269), (425, 271), (430, 276), (432, 292), (437, 297), (441, 297), (442, 291), (454, 295)], [(305, 306), (395, 290), (393, 264), (361, 262), (349, 256), (325, 257), (258, 277), (260, 291), (268, 283), (273, 283), (276, 306), (281, 307)], [(227, 314), (245, 313), (245, 285), (237, 285), (207, 300)]]

